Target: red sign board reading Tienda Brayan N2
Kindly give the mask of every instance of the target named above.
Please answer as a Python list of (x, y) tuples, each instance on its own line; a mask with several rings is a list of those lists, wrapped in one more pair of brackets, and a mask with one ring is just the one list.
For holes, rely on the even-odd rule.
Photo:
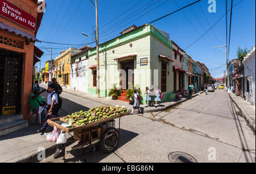
[(36, 18), (9, 1), (0, 0), (0, 16), (7, 18), (29, 30), (36, 30)]

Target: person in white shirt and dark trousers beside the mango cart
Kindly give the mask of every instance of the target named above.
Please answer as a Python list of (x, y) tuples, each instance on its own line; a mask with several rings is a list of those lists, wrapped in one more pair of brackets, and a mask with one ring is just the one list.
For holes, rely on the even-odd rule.
[[(48, 85), (48, 97), (47, 97), (47, 106), (48, 106), (48, 113), (47, 113), (47, 119), (51, 118), (57, 118), (57, 103), (58, 103), (58, 97), (54, 90), (54, 85)], [(38, 130), (38, 132), (42, 132), (41, 135), (44, 134), (48, 127), (47, 121), (44, 123), (44, 125), (41, 127), (41, 129)]]

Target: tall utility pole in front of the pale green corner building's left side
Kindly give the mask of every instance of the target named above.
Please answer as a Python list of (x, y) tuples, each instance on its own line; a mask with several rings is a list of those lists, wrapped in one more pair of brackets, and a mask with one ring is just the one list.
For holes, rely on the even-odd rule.
[(96, 8), (96, 49), (97, 49), (97, 97), (100, 98), (100, 56), (99, 56), (99, 45), (98, 45), (98, 3), (95, 0)]

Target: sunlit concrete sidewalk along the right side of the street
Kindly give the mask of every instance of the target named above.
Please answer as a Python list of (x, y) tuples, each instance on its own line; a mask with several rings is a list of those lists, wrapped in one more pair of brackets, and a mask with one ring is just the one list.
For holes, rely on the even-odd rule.
[(234, 93), (228, 92), (231, 100), (236, 104), (243, 117), (249, 123), (250, 127), (255, 132), (255, 106), (245, 101), (242, 97), (236, 96)]

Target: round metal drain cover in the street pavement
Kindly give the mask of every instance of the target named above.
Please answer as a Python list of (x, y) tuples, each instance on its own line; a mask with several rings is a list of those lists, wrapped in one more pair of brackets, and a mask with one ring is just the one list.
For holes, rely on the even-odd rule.
[(197, 160), (185, 152), (172, 152), (168, 155), (171, 163), (197, 163)]

